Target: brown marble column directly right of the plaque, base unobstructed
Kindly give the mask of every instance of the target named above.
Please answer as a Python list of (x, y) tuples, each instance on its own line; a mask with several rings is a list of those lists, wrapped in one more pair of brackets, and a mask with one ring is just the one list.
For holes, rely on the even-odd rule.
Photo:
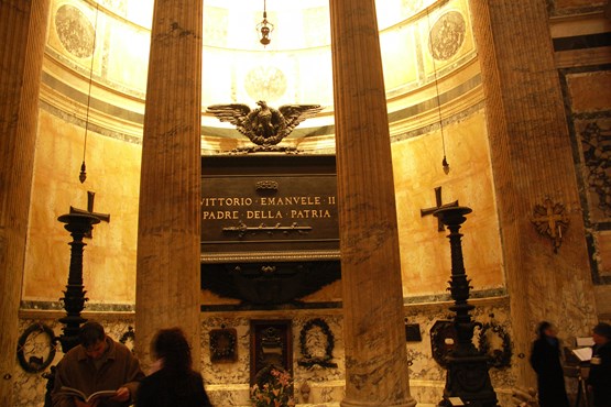
[(341, 405), (414, 406), (374, 1), (329, 4), (346, 341)]

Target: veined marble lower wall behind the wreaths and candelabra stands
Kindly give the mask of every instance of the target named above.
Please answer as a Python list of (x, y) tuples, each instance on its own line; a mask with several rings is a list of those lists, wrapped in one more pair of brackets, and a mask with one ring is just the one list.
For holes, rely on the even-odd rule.
[[(477, 306), (474, 318), (480, 322), (488, 322), (491, 315), (494, 321), (504, 327), (511, 334), (511, 321), (509, 312), (509, 299), (506, 297), (488, 298), (474, 301)], [(31, 323), (43, 322), (50, 326), (56, 334), (62, 332), (57, 322), (57, 312), (34, 311), (26, 312), (20, 319), (20, 333)], [(432, 358), (429, 330), (438, 319), (450, 317), (448, 304), (410, 304), (405, 306), (405, 317), (410, 323), (419, 323), (422, 342), (407, 342), (407, 356), (411, 360), (410, 387), (418, 406), (435, 405), (441, 399), (445, 385), (445, 370)], [(133, 326), (133, 314), (131, 312), (103, 312), (91, 317), (100, 321), (110, 337), (118, 340)], [(340, 310), (293, 310), (293, 311), (260, 311), (247, 312), (214, 312), (201, 314), (201, 373), (206, 389), (215, 406), (241, 407), (249, 404), (249, 378), (250, 378), (250, 320), (251, 319), (292, 319), (293, 321), (293, 372), (295, 382), (295, 397), (299, 406), (338, 406), (345, 395), (345, 353), (342, 316)], [(327, 322), (335, 338), (332, 362), (338, 367), (303, 367), (297, 364), (302, 358), (299, 346), (299, 333), (305, 323), (313, 318), (321, 318)], [(238, 360), (233, 363), (211, 363), (209, 354), (209, 332), (211, 329), (234, 328), (238, 332)], [(313, 330), (314, 337), (320, 334)], [(138, 333), (137, 333), (138, 334)], [(316, 339), (316, 338), (314, 338)], [(128, 342), (128, 345), (131, 345)], [(63, 356), (58, 349), (54, 363)], [(517, 358), (514, 355), (514, 358)], [(499, 396), (501, 406), (510, 407), (511, 388), (515, 383), (515, 373), (512, 367), (491, 369), (492, 384)], [(15, 403), (12, 407), (42, 407), (46, 380), (41, 373), (31, 374), (24, 372), (17, 365), (14, 376)], [(310, 387), (309, 398), (305, 404), (299, 392), (303, 383), (307, 382)], [(568, 388), (570, 391), (570, 388)]]

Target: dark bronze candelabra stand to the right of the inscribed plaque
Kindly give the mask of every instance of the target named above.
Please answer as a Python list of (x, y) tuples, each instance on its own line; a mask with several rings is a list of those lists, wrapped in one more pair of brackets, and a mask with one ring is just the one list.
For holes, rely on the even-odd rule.
[(470, 315), (476, 307), (469, 304), (471, 280), (467, 278), (465, 271), (462, 234), (459, 232), (467, 220), (465, 216), (470, 212), (471, 208), (454, 207), (443, 208), (434, 213), (450, 231), (451, 277), (448, 290), (454, 299), (450, 310), (455, 312), (454, 327), (457, 334), (457, 342), (448, 356), (446, 387), (439, 406), (452, 406), (450, 397), (460, 397), (471, 407), (498, 407), (497, 394), (488, 374), (489, 358), (473, 345), (473, 330), (481, 324), (473, 321)]

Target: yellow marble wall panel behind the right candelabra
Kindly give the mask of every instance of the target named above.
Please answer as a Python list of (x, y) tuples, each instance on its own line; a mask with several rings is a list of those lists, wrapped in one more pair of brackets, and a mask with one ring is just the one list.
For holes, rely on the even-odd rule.
[[(444, 129), (392, 144), (403, 293), (405, 297), (446, 292), (450, 271), (447, 232), (437, 219), (422, 217), (435, 207), (435, 187), (443, 204), (455, 200), (473, 209), (462, 228), (465, 262), (476, 289), (504, 286), (501, 241), (483, 110)], [(441, 167), (446, 145), (450, 170)]]

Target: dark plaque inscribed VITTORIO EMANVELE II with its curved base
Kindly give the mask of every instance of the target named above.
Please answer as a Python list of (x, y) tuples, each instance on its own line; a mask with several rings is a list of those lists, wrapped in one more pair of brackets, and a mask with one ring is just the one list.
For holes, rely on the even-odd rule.
[(338, 280), (335, 174), (335, 156), (203, 157), (201, 288), (273, 307)]

